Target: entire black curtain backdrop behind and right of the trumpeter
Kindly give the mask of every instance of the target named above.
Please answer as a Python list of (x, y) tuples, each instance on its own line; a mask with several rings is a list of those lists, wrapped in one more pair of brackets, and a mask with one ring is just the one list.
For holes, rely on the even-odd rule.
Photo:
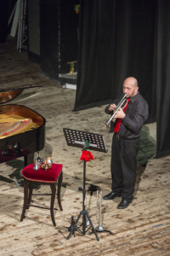
[(170, 154), (170, 3), (81, 1), (74, 110), (110, 103), (133, 76), (157, 124), (156, 157)]

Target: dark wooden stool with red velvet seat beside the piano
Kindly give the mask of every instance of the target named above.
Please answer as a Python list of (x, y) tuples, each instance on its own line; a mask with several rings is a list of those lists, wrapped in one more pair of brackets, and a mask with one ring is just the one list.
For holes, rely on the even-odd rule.
[[(60, 211), (63, 211), (63, 208), (61, 206), (60, 201), (60, 189), (61, 189), (61, 183), (63, 180), (63, 172), (62, 172), (62, 165), (59, 164), (53, 164), (52, 168), (48, 171), (44, 171), (42, 168), (38, 171), (33, 170), (34, 164), (31, 164), (29, 166), (26, 166), (23, 171), (22, 175), (24, 177), (24, 205), (22, 210), (22, 215), (20, 217), (20, 221), (23, 221), (23, 218), (25, 218), (26, 209), (29, 209), (29, 207), (38, 207), (31, 205), (31, 196), (32, 196), (32, 185), (33, 183), (39, 183), (39, 184), (45, 184), (50, 185), (52, 194), (33, 194), (33, 195), (51, 195), (51, 205), (50, 208), (46, 207), (38, 207), (42, 209), (48, 209), (51, 212), (51, 219), (54, 224), (54, 200), (55, 200), (55, 194), (56, 194), (56, 187), (55, 183), (57, 182), (57, 179), (59, 177), (58, 182), (58, 191), (57, 191), (57, 199), (59, 204)], [(28, 193), (29, 189), (29, 193)]]

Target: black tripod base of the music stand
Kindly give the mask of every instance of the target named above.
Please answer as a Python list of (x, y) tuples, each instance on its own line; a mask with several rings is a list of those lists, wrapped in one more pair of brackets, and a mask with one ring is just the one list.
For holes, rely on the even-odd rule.
[[(78, 223), (79, 218), (81, 218), (81, 216), (82, 216), (82, 230), (77, 229), (77, 223)], [(88, 211), (80, 212), (80, 214), (78, 215), (78, 218), (77, 218), (77, 221), (75, 222), (75, 224), (71, 225), (71, 232), (70, 232), (69, 236), (67, 236), (66, 240), (69, 240), (71, 238), (71, 234), (74, 234), (74, 231), (76, 231), (76, 230), (79, 231), (80, 233), (82, 233), (82, 235), (85, 235), (86, 232), (88, 232), (88, 230), (86, 230), (86, 217), (88, 218), (88, 221), (89, 221), (89, 223), (91, 225), (88, 228), (88, 230), (90, 228), (92, 228), (92, 232), (91, 233), (95, 234), (97, 241), (99, 241), (99, 236), (97, 235), (96, 230), (94, 229), (94, 225), (92, 224), (92, 221), (91, 221), (91, 219), (88, 216)]]

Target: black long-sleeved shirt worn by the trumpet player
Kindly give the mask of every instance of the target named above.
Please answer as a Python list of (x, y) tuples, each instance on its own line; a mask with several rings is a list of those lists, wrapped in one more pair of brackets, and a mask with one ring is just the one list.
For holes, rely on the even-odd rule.
[[(118, 104), (122, 100), (122, 96), (119, 99), (111, 102), (111, 104)], [(105, 108), (105, 113), (113, 114), (109, 111), (110, 105)], [(122, 119), (122, 123), (118, 134), (122, 137), (134, 138), (139, 137), (144, 121), (148, 118), (148, 103), (144, 100), (143, 96), (138, 92), (135, 96), (130, 98), (127, 109), (125, 111), (126, 116)], [(112, 122), (112, 121), (111, 121)]]

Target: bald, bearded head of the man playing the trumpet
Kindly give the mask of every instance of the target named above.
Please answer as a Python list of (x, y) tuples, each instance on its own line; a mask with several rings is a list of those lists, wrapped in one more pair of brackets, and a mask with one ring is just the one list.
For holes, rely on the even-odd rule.
[(138, 81), (133, 77), (127, 78), (123, 83), (123, 93), (127, 94), (127, 98), (131, 98), (138, 93)]

